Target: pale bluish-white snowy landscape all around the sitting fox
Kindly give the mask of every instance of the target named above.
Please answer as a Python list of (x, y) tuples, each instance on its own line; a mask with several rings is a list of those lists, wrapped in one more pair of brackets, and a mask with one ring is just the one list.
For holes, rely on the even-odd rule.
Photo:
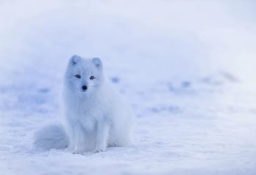
[[(256, 174), (255, 1), (0, 1), (0, 174)], [(73, 55), (99, 56), (132, 146), (42, 151)]]

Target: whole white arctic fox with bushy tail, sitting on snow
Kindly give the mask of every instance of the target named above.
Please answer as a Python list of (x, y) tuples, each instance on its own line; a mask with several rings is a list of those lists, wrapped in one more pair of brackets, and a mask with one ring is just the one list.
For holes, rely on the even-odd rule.
[(64, 127), (51, 125), (35, 136), (44, 149), (68, 147), (74, 154), (131, 144), (134, 114), (104, 77), (99, 58), (72, 56), (65, 71)]

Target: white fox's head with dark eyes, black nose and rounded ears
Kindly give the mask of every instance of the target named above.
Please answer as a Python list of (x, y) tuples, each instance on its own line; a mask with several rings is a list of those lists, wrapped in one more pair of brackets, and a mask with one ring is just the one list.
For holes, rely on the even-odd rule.
[(102, 61), (99, 58), (83, 59), (72, 56), (65, 73), (68, 87), (78, 94), (91, 94), (102, 84)]

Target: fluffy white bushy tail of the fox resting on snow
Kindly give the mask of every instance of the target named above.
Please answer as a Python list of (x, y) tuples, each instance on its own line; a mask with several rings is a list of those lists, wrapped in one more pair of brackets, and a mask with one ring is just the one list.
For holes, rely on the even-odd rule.
[(40, 149), (65, 149), (68, 137), (61, 124), (51, 124), (35, 133), (34, 144)]

